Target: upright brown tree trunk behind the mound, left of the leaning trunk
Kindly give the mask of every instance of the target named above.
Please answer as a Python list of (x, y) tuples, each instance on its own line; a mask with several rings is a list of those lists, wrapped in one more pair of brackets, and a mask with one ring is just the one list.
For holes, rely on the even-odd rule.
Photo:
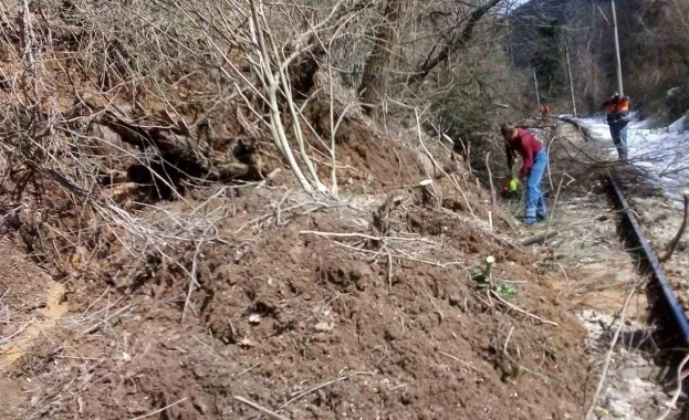
[(399, 39), (399, 22), (407, 6), (407, 0), (388, 0), (384, 21), (375, 32), (375, 44), (366, 62), (359, 97), (367, 105), (366, 113), (372, 115), (376, 105), (385, 96), (387, 73), (393, 62), (393, 53)]

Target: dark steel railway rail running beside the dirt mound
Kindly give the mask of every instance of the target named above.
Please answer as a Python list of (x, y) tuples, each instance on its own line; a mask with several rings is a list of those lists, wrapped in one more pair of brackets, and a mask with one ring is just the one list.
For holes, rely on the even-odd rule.
[(653, 286), (654, 292), (657, 293), (654, 306), (657, 305), (656, 308), (659, 314), (662, 314), (669, 318), (669, 324), (674, 327), (671, 332), (664, 330), (664, 335), (666, 335), (668, 339), (676, 342), (676, 345), (679, 347), (689, 347), (689, 321), (687, 321), (687, 315), (679, 304), (677, 295), (675, 295), (675, 292), (672, 291), (662, 267), (660, 266), (660, 262), (656, 258), (654, 250), (650, 248), (648, 240), (644, 235), (639, 221), (634, 214), (634, 211), (629, 208), (627, 199), (625, 198), (623, 190), (619, 188), (619, 182), (616, 180), (610, 170), (607, 171), (607, 178), (610, 195), (613, 196), (613, 199), (619, 210), (622, 210), (624, 221), (627, 224), (629, 239), (638, 245), (640, 256), (645, 260), (650, 271), (650, 285)]

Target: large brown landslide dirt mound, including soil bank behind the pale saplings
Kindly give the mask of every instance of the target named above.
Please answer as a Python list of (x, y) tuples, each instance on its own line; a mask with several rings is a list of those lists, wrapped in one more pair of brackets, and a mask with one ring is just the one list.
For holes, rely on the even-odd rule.
[[(328, 108), (314, 109), (327, 138)], [(375, 196), (317, 199), (282, 175), (124, 211), (77, 207), (46, 177), (23, 195), (6, 181), (24, 203), (10, 233), (70, 307), (7, 371), (31, 378), (13, 414), (576, 417), (584, 330), (549, 285), (560, 274), (511, 241), (466, 171), (436, 174), (428, 200), (413, 148), (347, 118), (336, 141), (343, 190)], [(401, 185), (416, 187), (383, 195)]]

